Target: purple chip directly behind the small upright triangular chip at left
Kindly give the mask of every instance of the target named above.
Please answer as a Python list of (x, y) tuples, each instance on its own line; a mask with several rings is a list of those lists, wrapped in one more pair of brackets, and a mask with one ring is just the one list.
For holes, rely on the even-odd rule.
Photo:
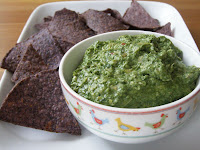
[(33, 48), (39, 53), (49, 68), (58, 68), (63, 52), (47, 28), (30, 36), (26, 41), (16, 44), (2, 60), (1, 67), (14, 72), (30, 44), (33, 45)]

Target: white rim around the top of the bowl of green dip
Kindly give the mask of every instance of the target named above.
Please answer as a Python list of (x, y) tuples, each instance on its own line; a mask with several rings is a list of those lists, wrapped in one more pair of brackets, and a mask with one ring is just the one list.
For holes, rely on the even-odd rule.
[[(108, 112), (113, 112), (113, 113), (125, 113), (125, 114), (146, 114), (146, 113), (156, 113), (156, 112), (160, 112), (160, 111), (164, 111), (164, 110), (169, 110), (172, 108), (175, 108), (181, 104), (184, 104), (186, 102), (188, 102), (190, 99), (192, 99), (193, 97), (195, 97), (199, 92), (200, 92), (200, 82), (197, 84), (197, 86), (195, 87), (195, 89), (190, 92), (188, 95), (174, 101), (168, 104), (164, 104), (164, 105), (160, 105), (160, 106), (155, 106), (155, 107), (148, 107), (148, 108), (119, 108), (119, 107), (112, 107), (112, 106), (107, 106), (107, 105), (103, 105), (103, 104), (98, 104), (95, 103), (93, 101), (90, 101), (82, 96), (80, 96), (78, 93), (76, 93), (74, 90), (71, 89), (71, 87), (68, 85), (68, 83), (65, 81), (64, 75), (63, 75), (63, 66), (64, 66), (64, 61), (67, 58), (67, 56), (73, 51), (73, 49), (75, 49), (77, 46), (81, 45), (82, 43), (94, 39), (94, 38), (98, 38), (101, 36), (107, 36), (109, 34), (117, 34), (117, 33), (136, 33), (136, 34), (153, 34), (155, 36), (165, 36), (170, 40), (176, 41), (180, 44), (183, 44), (184, 46), (188, 47), (189, 50), (191, 50), (193, 53), (195, 53), (195, 55), (198, 55), (200, 58), (200, 53), (198, 53), (197, 51), (195, 51), (192, 47), (190, 47), (189, 45), (175, 39), (174, 37), (168, 36), (168, 35), (163, 35), (160, 33), (156, 33), (156, 32), (151, 32), (151, 31), (142, 31), (142, 30), (121, 30), (121, 31), (112, 31), (112, 32), (107, 32), (107, 33), (103, 33), (103, 34), (98, 34), (92, 37), (89, 37), (87, 39), (84, 39), (82, 41), (80, 41), (79, 43), (75, 44), (73, 47), (71, 47), (63, 56), (63, 58), (60, 61), (60, 65), (59, 65), (59, 77), (60, 77), (60, 82), (61, 85), (64, 87), (64, 89), (71, 95), (73, 96), (75, 99), (77, 99), (78, 101), (86, 104), (86, 105), (90, 105), (93, 108), (96, 109), (100, 109), (100, 110), (104, 110), (104, 111), (108, 111)], [(120, 36), (120, 35), (119, 35)]]

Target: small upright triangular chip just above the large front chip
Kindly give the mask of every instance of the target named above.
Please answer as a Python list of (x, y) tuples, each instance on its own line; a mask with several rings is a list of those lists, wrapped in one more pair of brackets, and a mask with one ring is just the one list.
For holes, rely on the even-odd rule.
[(23, 78), (37, 74), (42, 70), (48, 70), (48, 66), (32, 45), (29, 45), (11, 80), (19, 82)]

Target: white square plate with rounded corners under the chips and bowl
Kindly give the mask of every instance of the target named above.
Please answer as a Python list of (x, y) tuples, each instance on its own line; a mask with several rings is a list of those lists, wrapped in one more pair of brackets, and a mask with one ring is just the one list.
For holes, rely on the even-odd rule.
[[(161, 25), (171, 22), (174, 30), (174, 37), (183, 41), (198, 51), (198, 48), (185, 25), (181, 15), (171, 5), (160, 2), (139, 2), (152, 17), (158, 19)], [(117, 9), (122, 15), (130, 6), (130, 1), (69, 1), (48, 3), (37, 7), (29, 17), (19, 39), (20, 42), (36, 32), (34, 25), (43, 21), (43, 18), (48, 15), (53, 15), (56, 10), (64, 7), (75, 10), (79, 13), (86, 11), (89, 8), (104, 10), (106, 8)], [(5, 71), (0, 82), (0, 104), (7, 93), (12, 88), (13, 84), (10, 81), (12, 74)], [(101, 139), (86, 129), (82, 128), (81, 136), (72, 136), (69, 134), (50, 133), (36, 129), (12, 125), (0, 121), (0, 150), (199, 150), (200, 149), (200, 110), (197, 109), (192, 118), (174, 134), (161, 139), (159, 141), (146, 144), (118, 144)]]

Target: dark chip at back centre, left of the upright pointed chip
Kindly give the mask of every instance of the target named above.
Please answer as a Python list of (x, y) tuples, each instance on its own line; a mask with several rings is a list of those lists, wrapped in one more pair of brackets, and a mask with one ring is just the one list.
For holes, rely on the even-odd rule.
[(89, 9), (85, 11), (82, 16), (85, 18), (87, 25), (98, 34), (127, 30), (129, 28), (128, 25), (123, 24), (120, 20), (103, 11)]

